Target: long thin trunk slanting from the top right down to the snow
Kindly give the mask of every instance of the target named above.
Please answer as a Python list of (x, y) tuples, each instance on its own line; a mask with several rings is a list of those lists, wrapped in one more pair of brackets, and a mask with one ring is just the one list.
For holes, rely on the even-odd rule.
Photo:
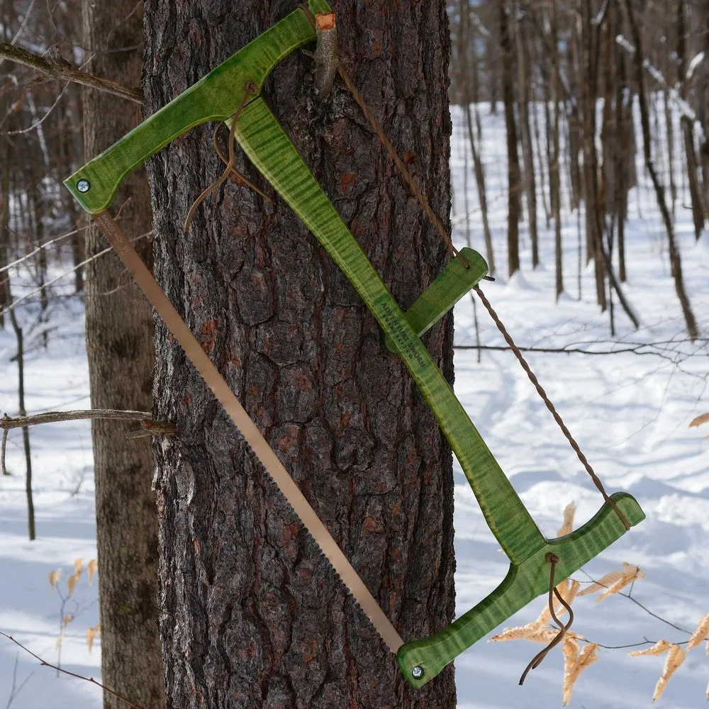
[(696, 340), (697, 325), (696, 320), (694, 319), (694, 313), (692, 312), (691, 303), (689, 302), (689, 298), (684, 289), (684, 281), (682, 278), (682, 261), (675, 240), (674, 226), (672, 225), (672, 218), (669, 214), (669, 209), (667, 208), (667, 204), (664, 199), (664, 187), (660, 182), (660, 179), (652, 162), (652, 138), (650, 136), (650, 119), (649, 111), (647, 109), (647, 96), (645, 94), (644, 88), (644, 73), (642, 71), (642, 62), (644, 60), (644, 57), (642, 54), (640, 28), (638, 28), (637, 26), (637, 20), (635, 19), (635, 11), (633, 11), (632, 9), (632, 0), (625, 0), (625, 9), (627, 11), (628, 22), (630, 23), (632, 40), (633, 43), (635, 43), (635, 54), (633, 55), (633, 59), (635, 61), (635, 81), (637, 82), (637, 96), (638, 100), (640, 101), (640, 121), (642, 123), (642, 145), (643, 155), (645, 158), (645, 167), (647, 168), (647, 172), (649, 172), (650, 179), (652, 179), (652, 185), (654, 186), (655, 196), (657, 197), (657, 206), (659, 207), (660, 213), (662, 215), (662, 220), (664, 221), (665, 230), (667, 232), (667, 244), (669, 247), (671, 272), (672, 277), (674, 278), (674, 286), (677, 293), (677, 297), (679, 298), (684, 320), (687, 325), (687, 332), (691, 340)]

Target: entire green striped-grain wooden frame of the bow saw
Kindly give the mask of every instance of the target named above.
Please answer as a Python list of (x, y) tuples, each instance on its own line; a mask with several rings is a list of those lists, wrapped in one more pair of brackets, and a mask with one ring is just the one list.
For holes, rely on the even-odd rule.
[[(311, 12), (330, 11), (325, 0), (310, 0)], [(542, 593), (549, 591), (548, 554), (559, 557), (557, 582), (618, 540), (625, 526), (608, 503), (578, 530), (546, 539), (527, 512), (485, 442), (471, 423), (447, 381), (419, 339), (487, 273), (484, 259), (464, 249), (464, 262), (449, 266), (404, 313), (393, 300), (347, 225), (298, 154), (291, 140), (259, 95), (269, 72), (286, 55), (316, 40), (301, 9), (213, 69), (199, 82), (150, 116), (99, 157), (75, 172), (65, 185), (86, 211), (100, 213), (118, 185), (135, 167), (186, 130), (206, 121), (225, 121), (245, 100), (247, 82), (257, 93), (242, 108), (235, 136), (265, 179), (318, 238), (357, 289), (386, 335), (387, 345), (403, 359), (435, 414), (499, 544), (510, 559), (502, 583), (445, 630), (406, 642), (398, 650), (401, 671), (414, 687), (434, 678), (454, 657), (503, 623)], [(630, 525), (644, 514), (627, 493), (611, 496)]]

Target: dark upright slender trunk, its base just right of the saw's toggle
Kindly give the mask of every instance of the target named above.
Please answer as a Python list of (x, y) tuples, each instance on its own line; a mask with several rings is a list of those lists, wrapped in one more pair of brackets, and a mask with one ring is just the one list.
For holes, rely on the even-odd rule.
[(517, 152), (517, 122), (515, 121), (514, 57), (506, 0), (497, 0), (502, 58), (502, 96), (505, 102), (507, 128), (507, 272), (512, 276), (520, 269), (520, 190), (522, 172)]

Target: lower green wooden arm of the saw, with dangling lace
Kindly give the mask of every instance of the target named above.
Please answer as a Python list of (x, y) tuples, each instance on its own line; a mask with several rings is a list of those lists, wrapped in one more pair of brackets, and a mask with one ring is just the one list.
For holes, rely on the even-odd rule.
[[(644, 513), (635, 498), (627, 493), (610, 496), (630, 525), (644, 520)], [(474, 608), (453, 621), (437, 635), (403, 644), (397, 653), (401, 671), (413, 687), (423, 686), (435, 677), (457, 655), (504, 623), (537, 596), (549, 593), (549, 562), (554, 553), (560, 561), (554, 570), (558, 584), (625, 534), (625, 526), (608, 503), (595, 517), (575, 532), (547, 540), (537, 552), (521, 564), (510, 564), (504, 581)], [(413, 669), (423, 674), (416, 679)]]

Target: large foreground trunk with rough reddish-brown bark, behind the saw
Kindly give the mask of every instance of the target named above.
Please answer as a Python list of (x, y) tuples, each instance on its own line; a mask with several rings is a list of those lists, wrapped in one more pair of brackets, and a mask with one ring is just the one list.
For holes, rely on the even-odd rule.
[[(445, 3), (333, 6), (340, 60), (447, 224)], [(172, 0), (145, 7), (153, 111), (294, 4), (214, 0), (194, 5), (198, 17)], [(318, 102), (312, 67), (291, 55), (264, 98), (406, 308), (445, 245), (342, 84)], [(222, 170), (211, 132), (195, 128), (151, 162), (158, 280), (403, 637), (429, 635), (454, 613), (450, 449), (350, 283), (275, 195), (271, 206), (226, 184), (182, 236)], [(240, 151), (237, 165), (264, 186)], [(425, 338), (452, 379), (452, 320)], [(452, 667), (408, 690), (162, 325), (154, 391), (156, 415), (179, 431), (155, 447), (168, 706), (454, 707)]]

